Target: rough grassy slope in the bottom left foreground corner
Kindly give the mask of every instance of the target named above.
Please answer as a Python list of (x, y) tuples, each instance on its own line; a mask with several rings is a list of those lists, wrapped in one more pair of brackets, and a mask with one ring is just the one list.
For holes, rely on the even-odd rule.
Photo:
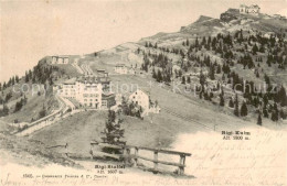
[(9, 125), (7, 123), (0, 121), (1, 163), (10, 162), (38, 167), (56, 163), (64, 166), (81, 167), (64, 155), (46, 149), (40, 141), (6, 134)]

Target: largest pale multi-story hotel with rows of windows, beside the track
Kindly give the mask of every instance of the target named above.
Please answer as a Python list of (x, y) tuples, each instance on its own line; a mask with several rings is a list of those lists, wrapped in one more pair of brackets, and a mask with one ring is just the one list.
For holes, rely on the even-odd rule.
[(57, 91), (65, 98), (73, 98), (82, 107), (107, 109), (115, 105), (115, 95), (109, 89), (107, 76), (81, 76), (57, 86)]

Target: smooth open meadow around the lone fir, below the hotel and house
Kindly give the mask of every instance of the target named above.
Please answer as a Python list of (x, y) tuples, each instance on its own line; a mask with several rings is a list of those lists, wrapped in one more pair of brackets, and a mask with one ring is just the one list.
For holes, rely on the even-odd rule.
[[(146, 89), (151, 80), (137, 76), (111, 76), (111, 79), (117, 81), (119, 87), (128, 83)], [(209, 132), (215, 124), (216, 131), (258, 128), (252, 118), (234, 118), (228, 110), (219, 109), (219, 106), (198, 100), (191, 95), (171, 92), (169, 88), (160, 88), (153, 84), (155, 87), (150, 89), (151, 99), (158, 100), (161, 112), (149, 114), (144, 120), (120, 116), (124, 119), (121, 127), (125, 129), (125, 140), (128, 144), (168, 149), (180, 134)], [(91, 140), (100, 140), (106, 119), (107, 111), (81, 112), (36, 131), (31, 139), (46, 145), (68, 143), (71, 152), (88, 153)], [(270, 129), (277, 128), (265, 119), (263, 123)]]

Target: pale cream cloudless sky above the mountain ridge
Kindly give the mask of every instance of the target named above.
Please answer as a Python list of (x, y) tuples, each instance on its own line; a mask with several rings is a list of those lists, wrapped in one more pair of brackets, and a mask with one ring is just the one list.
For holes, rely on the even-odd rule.
[(44, 56), (87, 54), (177, 32), (201, 14), (257, 3), (287, 15), (287, 0), (0, 0), (0, 81), (24, 75)]

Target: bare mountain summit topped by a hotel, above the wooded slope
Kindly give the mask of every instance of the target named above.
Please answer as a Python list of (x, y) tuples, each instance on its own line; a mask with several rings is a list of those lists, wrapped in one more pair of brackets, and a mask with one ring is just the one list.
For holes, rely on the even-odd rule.
[(220, 19), (200, 15), (200, 18), (185, 26), (181, 26), (179, 32), (158, 33), (153, 36), (145, 37), (140, 41), (158, 42), (163, 45), (180, 43), (185, 39), (195, 39), (201, 36), (215, 36), (219, 33), (234, 33), (238, 30), (253, 31), (262, 34), (273, 32), (280, 34), (287, 31), (287, 19), (283, 15), (268, 15), (261, 13), (259, 7), (241, 6), (238, 9), (228, 9), (223, 12)]

